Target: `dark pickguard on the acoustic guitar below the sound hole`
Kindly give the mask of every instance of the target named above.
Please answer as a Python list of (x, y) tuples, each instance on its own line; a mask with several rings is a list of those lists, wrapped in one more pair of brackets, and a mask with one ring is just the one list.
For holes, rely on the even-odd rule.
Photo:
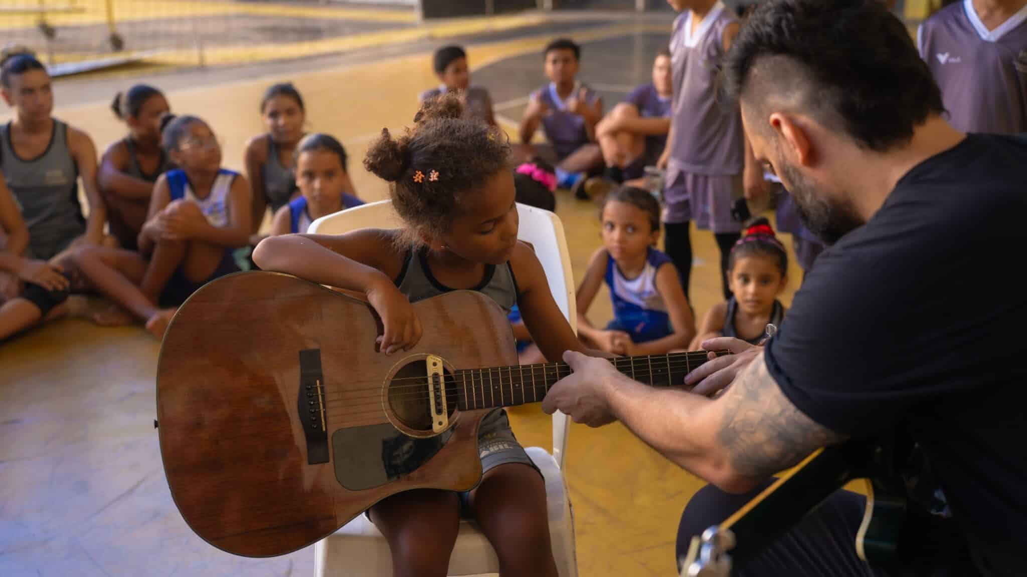
[(339, 429), (332, 434), (335, 477), (349, 491), (391, 483), (428, 462), (452, 434), (415, 438), (388, 423)]

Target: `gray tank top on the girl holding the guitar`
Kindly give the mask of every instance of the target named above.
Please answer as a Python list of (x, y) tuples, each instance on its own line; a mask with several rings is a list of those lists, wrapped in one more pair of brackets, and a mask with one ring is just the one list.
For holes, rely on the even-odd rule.
[[(455, 291), (439, 282), (431, 274), (431, 269), (428, 268), (428, 254), (423, 248), (412, 248), (407, 253), (407, 260), (403, 264), (395, 285), (412, 303)], [(514, 269), (508, 262), (499, 266), (487, 265), (482, 282), (471, 291), (491, 297), (505, 314), (509, 314), (510, 309), (517, 304), (518, 297)]]

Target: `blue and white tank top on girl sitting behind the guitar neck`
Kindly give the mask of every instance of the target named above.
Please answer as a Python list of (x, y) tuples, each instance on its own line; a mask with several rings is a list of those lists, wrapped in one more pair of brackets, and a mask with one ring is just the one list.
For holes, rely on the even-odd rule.
[(614, 325), (632, 336), (632, 341), (644, 343), (673, 334), (667, 305), (656, 291), (656, 271), (671, 262), (660, 251), (649, 247), (645, 267), (635, 278), (625, 278), (613, 257), (607, 255), (606, 285), (613, 301)]

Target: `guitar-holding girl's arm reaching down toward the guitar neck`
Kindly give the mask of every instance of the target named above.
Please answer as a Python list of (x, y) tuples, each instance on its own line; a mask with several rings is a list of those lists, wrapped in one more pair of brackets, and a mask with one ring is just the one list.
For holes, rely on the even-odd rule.
[(535, 252), (519, 241), (510, 257), (510, 266), (521, 291), (518, 297), (521, 317), (545, 358), (549, 361), (562, 360), (564, 351), (568, 350), (588, 354), (553, 300), (549, 282)]

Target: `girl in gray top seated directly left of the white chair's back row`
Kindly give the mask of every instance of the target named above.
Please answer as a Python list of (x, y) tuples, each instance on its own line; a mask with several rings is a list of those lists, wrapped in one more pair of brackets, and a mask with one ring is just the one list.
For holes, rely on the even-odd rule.
[[(256, 235), (268, 205), (271, 214), (289, 204), (296, 193), (293, 151), (303, 138), (306, 112), (303, 98), (291, 83), (274, 84), (264, 91), (261, 119), (267, 133), (246, 143), (244, 160), (253, 202), (250, 228)], [(260, 240), (257, 236), (254, 243)]]

